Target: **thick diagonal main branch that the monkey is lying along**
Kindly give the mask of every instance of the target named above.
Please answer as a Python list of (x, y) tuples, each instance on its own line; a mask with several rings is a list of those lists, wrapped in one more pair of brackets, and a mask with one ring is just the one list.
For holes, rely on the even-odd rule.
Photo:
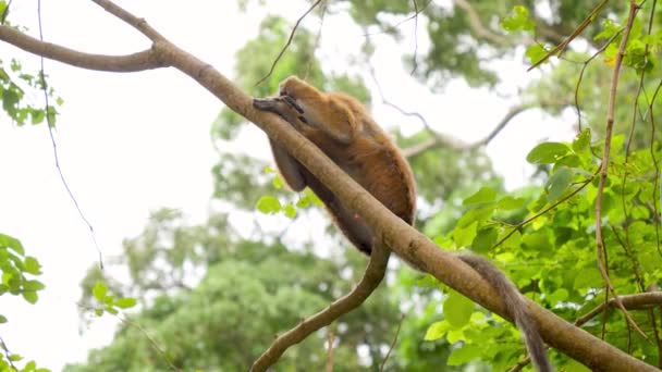
[[(99, 4), (110, 3), (94, 1)], [(148, 26), (145, 22), (140, 22), (137, 27), (149, 29), (146, 28)], [(439, 249), (434, 243), (391, 213), (284, 120), (275, 114), (254, 109), (253, 97), (242, 91), (211, 65), (167, 39), (157, 39), (152, 50), (159, 57), (160, 63), (172, 65), (191, 76), (223, 101), (229, 109), (252, 121), (270, 138), (287, 148), (287, 151), (308, 168), (344, 204), (356, 211), (370, 226), (381, 231), (384, 244), (397, 256), (488, 310), (510, 319), (505, 314), (501, 298), (476, 271), (455, 256)], [(527, 300), (527, 306), (544, 340), (587, 367), (611, 371), (657, 371), (654, 367), (577, 328), (535, 302)]]

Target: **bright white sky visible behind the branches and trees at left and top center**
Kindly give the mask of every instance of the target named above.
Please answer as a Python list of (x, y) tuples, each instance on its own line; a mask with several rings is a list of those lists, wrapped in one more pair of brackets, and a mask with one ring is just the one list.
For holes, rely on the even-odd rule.
[[(256, 35), (265, 14), (259, 9), (241, 14), (235, 2), (200, 0), (183, 7), (182, 1), (171, 0), (118, 1), (230, 76), (234, 52)], [(291, 3), (286, 12), (295, 20), (307, 4)], [(33, 36), (38, 35), (36, 17), (35, 0), (13, 2), (10, 20), (28, 26)], [(315, 29), (318, 23), (311, 22), (308, 25)], [(361, 41), (360, 30), (347, 27), (347, 22), (344, 16), (324, 20), (320, 55), (332, 58), (331, 69), (344, 69), (345, 57)], [(90, 1), (44, 1), (42, 23), (48, 41), (82, 51), (130, 53), (149, 46), (140, 34)], [(403, 27), (413, 34), (413, 24)], [(461, 82), (432, 95), (402, 69), (401, 53), (414, 49), (410, 37), (402, 46), (383, 36), (377, 40), (375, 69), (387, 98), (405, 110), (419, 111), (428, 122), (438, 123), (440, 132), (467, 141), (482, 138), (516, 101), (470, 90)], [(425, 47), (425, 40), (419, 44)], [(5, 64), (19, 58), (26, 71), (38, 65), (36, 57), (3, 44), (0, 55)], [(47, 61), (46, 71), (65, 101), (57, 129), (60, 163), (105, 255), (119, 252), (122, 238), (138, 234), (150, 210), (176, 208), (194, 221), (204, 220), (214, 162), (209, 127), (220, 102), (172, 69), (110, 74)], [(534, 76), (516, 62), (504, 63), (500, 71), (513, 83), (500, 90), (506, 94)], [(40, 102), (41, 94), (29, 97)], [(373, 97), (375, 115), (382, 125), (419, 124), (378, 104), (377, 92)], [(535, 141), (572, 138), (569, 122), (527, 112), (493, 140), (488, 151), (507, 185), (516, 187), (526, 179), (524, 157)], [(257, 128), (246, 138), (252, 144), (233, 147), (267, 149)], [(0, 336), (13, 352), (59, 371), (66, 362), (85, 360), (88, 348), (112, 338), (115, 321), (110, 317), (83, 333), (78, 330), (78, 283), (97, 262), (97, 251), (60, 182), (46, 125), (19, 128), (0, 116), (0, 232), (20, 238), (28, 255), (39, 259), (44, 265), (39, 280), (47, 284), (36, 306), (0, 297), (0, 313), (9, 318), (0, 325)]]

